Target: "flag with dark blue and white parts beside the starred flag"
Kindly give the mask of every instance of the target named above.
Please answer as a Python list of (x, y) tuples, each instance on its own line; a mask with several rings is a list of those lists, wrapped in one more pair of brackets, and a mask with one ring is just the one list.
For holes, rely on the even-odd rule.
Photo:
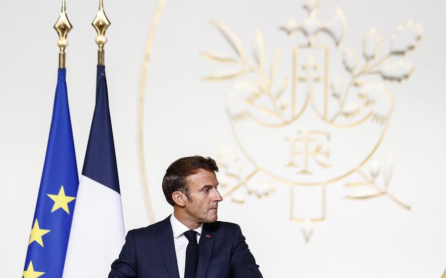
[(124, 245), (124, 221), (105, 67), (98, 65), (96, 107), (77, 191), (64, 278), (107, 277)]

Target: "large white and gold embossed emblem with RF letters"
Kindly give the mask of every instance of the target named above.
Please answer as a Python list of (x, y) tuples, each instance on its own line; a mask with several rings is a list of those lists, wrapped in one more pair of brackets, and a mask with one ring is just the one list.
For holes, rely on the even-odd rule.
[[(327, 20), (318, 18), (315, 1), (303, 9), (302, 21), (278, 26), (284, 44), (271, 54), (268, 49), (277, 43), (266, 43), (260, 30), (251, 55), (234, 30), (213, 22), (231, 53), (202, 56), (228, 70), (204, 81), (233, 84), (224, 109), (237, 146), (219, 151), (223, 196), (243, 204), (250, 195), (261, 198), (276, 186), (288, 186), (290, 219), (304, 223), (308, 241), (312, 223), (325, 219), (325, 188), (334, 183), (351, 189), (347, 199), (382, 196), (410, 209), (389, 188), (390, 152), (384, 159), (374, 155), (394, 113), (388, 83), (406, 80), (414, 71), (406, 54), (420, 42), (422, 27), (412, 21), (399, 25), (387, 47), (372, 28), (359, 50), (343, 46), (347, 20), (341, 8)], [(318, 204), (317, 212), (306, 210), (305, 202)]]

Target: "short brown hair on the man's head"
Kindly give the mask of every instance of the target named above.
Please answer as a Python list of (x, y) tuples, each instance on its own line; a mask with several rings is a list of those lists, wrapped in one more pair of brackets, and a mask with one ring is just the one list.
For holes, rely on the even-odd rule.
[(219, 167), (215, 160), (210, 157), (191, 156), (183, 157), (173, 162), (166, 170), (163, 178), (163, 192), (166, 200), (172, 206), (173, 202), (172, 194), (175, 191), (181, 191), (186, 194), (187, 199), (191, 200), (191, 193), (187, 185), (186, 178), (194, 175), (199, 169), (205, 169), (208, 171), (218, 172)]

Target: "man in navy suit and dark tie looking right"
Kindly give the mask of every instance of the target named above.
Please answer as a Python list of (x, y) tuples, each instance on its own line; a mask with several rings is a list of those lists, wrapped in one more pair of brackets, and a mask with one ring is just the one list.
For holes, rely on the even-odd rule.
[(237, 224), (217, 221), (217, 164), (185, 157), (167, 168), (163, 192), (173, 214), (129, 231), (109, 278), (262, 277)]

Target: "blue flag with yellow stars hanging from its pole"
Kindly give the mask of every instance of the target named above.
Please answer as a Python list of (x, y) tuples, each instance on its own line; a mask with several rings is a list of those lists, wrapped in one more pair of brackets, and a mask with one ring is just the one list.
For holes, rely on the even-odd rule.
[(59, 69), (47, 154), (32, 221), (24, 278), (62, 277), (79, 178), (65, 69)]

